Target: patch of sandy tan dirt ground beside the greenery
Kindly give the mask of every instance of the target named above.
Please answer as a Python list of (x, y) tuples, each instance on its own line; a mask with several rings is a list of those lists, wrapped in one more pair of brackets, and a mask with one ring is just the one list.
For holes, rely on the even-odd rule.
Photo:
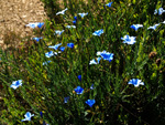
[(20, 37), (32, 34), (32, 29), (24, 25), (46, 18), (40, 0), (0, 0), (0, 45), (10, 32)]

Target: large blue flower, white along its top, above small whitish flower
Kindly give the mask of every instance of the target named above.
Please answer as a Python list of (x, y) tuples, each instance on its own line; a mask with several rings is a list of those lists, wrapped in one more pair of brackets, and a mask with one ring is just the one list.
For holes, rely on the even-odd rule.
[(97, 55), (101, 55), (101, 58), (103, 60), (107, 60), (109, 62), (111, 62), (113, 60), (113, 53), (109, 53), (109, 52), (106, 52), (106, 51), (102, 51), (102, 52), (97, 52)]

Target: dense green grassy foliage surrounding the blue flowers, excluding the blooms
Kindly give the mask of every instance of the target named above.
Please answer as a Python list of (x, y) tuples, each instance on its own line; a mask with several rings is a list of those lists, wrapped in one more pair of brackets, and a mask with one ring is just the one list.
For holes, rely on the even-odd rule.
[[(51, 20), (41, 30), (34, 30), (40, 42), (12, 51), (0, 50), (0, 84), (2, 84), (2, 123), (8, 124), (107, 124), (162, 125), (165, 122), (165, 39), (161, 23), (156, 30), (150, 25), (163, 22), (154, 10), (164, 7), (160, 0), (117, 0), (110, 8), (103, 1), (64, 0), (63, 10), (56, 0), (43, 0)], [(80, 9), (78, 9), (80, 8)], [(80, 18), (77, 13), (88, 12)], [(164, 14), (164, 13), (163, 13)], [(76, 29), (66, 29), (77, 17)], [(59, 19), (59, 20), (57, 20)], [(132, 24), (144, 27), (134, 31)], [(103, 34), (95, 37), (96, 30)], [(54, 35), (55, 30), (65, 30)], [(122, 43), (121, 37), (136, 37), (132, 45)], [(32, 42), (32, 41), (31, 41)], [(48, 45), (74, 43), (74, 49), (47, 59)], [(111, 62), (101, 60), (89, 65), (98, 51), (113, 53)], [(52, 50), (54, 51), (54, 50)], [(54, 51), (58, 52), (58, 51)], [(52, 61), (43, 65), (43, 62)], [(78, 80), (81, 75), (81, 81)], [(144, 85), (134, 87), (128, 82), (140, 79)], [(23, 80), (21, 87), (10, 87), (12, 81)], [(90, 86), (94, 84), (94, 90)], [(77, 95), (74, 88), (81, 86)], [(67, 103), (64, 97), (69, 96)], [(85, 102), (96, 100), (92, 107)], [(32, 121), (21, 123), (25, 112), (35, 114)], [(43, 117), (40, 112), (43, 112)]]

